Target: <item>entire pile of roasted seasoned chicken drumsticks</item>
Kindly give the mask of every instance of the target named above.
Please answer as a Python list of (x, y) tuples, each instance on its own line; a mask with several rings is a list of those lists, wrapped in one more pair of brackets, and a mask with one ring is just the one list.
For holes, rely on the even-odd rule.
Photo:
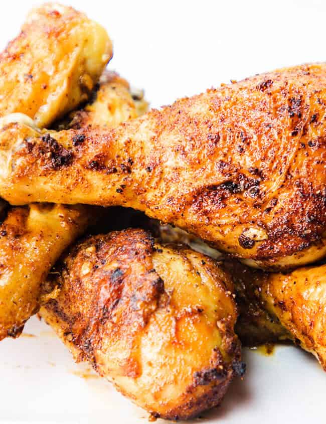
[(0, 56), (0, 338), (39, 311), (172, 419), (243, 375), (238, 336), (293, 340), (326, 370), (326, 65), (144, 113), (111, 57), (57, 4)]

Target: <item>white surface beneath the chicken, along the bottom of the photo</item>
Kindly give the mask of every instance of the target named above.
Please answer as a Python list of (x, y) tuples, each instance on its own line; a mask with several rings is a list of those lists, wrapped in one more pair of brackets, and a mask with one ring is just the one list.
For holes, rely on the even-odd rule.
[[(97, 377), (90, 366), (75, 364), (51, 328), (36, 317), (21, 338), (1, 342), (0, 357), (0, 420), (147, 422), (148, 413)], [(245, 349), (244, 360), (245, 378), (235, 380), (222, 406), (203, 414), (200, 422), (324, 422), (326, 374), (312, 356), (278, 346), (271, 356)]]

